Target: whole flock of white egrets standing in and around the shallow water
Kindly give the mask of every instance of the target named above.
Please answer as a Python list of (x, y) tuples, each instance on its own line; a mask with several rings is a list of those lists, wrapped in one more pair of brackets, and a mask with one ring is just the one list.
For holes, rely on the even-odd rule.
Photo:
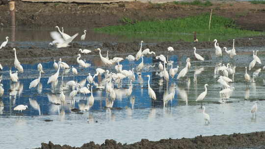
[[(58, 26), (56, 26), (56, 28), (58, 29), (59, 32), (57, 31), (53, 31), (51, 32), (51, 37), (54, 39), (53, 42), (50, 43), (50, 45), (56, 45), (57, 48), (62, 48), (62, 47), (68, 47), (69, 44), (78, 36), (78, 33), (76, 33), (73, 36), (69, 36), (68, 34), (63, 32), (63, 28), (62, 31), (60, 30), (60, 28)], [(81, 36), (81, 40), (85, 40), (85, 35), (86, 35), (86, 30), (84, 30), (84, 34)], [(8, 37), (6, 37), (6, 41), (4, 41), (1, 46), (0, 49), (5, 47), (6, 44), (8, 42)], [(215, 48), (215, 55), (216, 58), (219, 59), (222, 57), (222, 49), (219, 47), (217, 40), (214, 39), (214, 48)], [(141, 41), (140, 43), (140, 50), (136, 53), (135, 56), (133, 55), (128, 55), (126, 56), (126, 59), (128, 61), (130, 61), (130, 63), (134, 62), (134, 61), (138, 61), (140, 60), (141, 63), (138, 64), (138, 66), (135, 68), (135, 70), (138, 72), (138, 80), (139, 83), (142, 83), (141, 80), (139, 78), (142, 79), (141, 75), (141, 71), (142, 69), (145, 67), (144, 65), (144, 56), (148, 55), (148, 54), (154, 54), (156, 56), (156, 59), (159, 59), (159, 65), (158, 65), (158, 69), (159, 69), (159, 76), (161, 78), (163, 78), (164, 81), (168, 82), (169, 81), (169, 77), (174, 78), (175, 75), (178, 73), (179, 71), (179, 66), (177, 66), (176, 68), (173, 68), (172, 65), (172, 61), (169, 61), (164, 55), (160, 54), (160, 55), (156, 55), (156, 53), (154, 51), (150, 51), (149, 49), (145, 49), (142, 50), (142, 43), (143, 41)], [(236, 54), (236, 50), (235, 50), (235, 40), (233, 42), (233, 48), (232, 50), (227, 50), (226, 47), (224, 47), (223, 49), (225, 50), (225, 52), (230, 56), (231, 59), (234, 58)], [(66, 85), (68, 87), (70, 87), (69, 89), (72, 90), (72, 92), (70, 93), (70, 98), (72, 99), (72, 102), (74, 101), (74, 97), (78, 94), (82, 94), (84, 97), (87, 96), (87, 94), (90, 94), (90, 96), (87, 99), (87, 102), (89, 104), (89, 107), (93, 106), (94, 104), (94, 97), (93, 97), (93, 92), (92, 92), (92, 84), (94, 84), (94, 86), (96, 86), (96, 88), (98, 89), (105, 89), (106, 90), (106, 95), (109, 96), (109, 102), (108, 104), (106, 104), (107, 107), (111, 108), (113, 105), (113, 101), (116, 99), (116, 94), (114, 92), (114, 83), (117, 83), (117, 86), (120, 87), (122, 84), (122, 80), (125, 78), (128, 78), (130, 80), (130, 86), (129, 89), (127, 89), (127, 95), (131, 95), (132, 94), (132, 81), (135, 80), (135, 75), (134, 75), (134, 68), (132, 68), (132, 70), (123, 70), (122, 65), (120, 64), (121, 61), (124, 60), (124, 58), (122, 57), (114, 57), (112, 59), (108, 58), (108, 53), (106, 55), (106, 57), (104, 57), (101, 54), (101, 49), (98, 48), (96, 49), (99, 51), (99, 56), (101, 58), (101, 61), (104, 63), (104, 65), (108, 66), (108, 67), (112, 67), (114, 66), (114, 69), (116, 72), (110, 72), (108, 70), (104, 70), (102, 68), (97, 68), (96, 69), (96, 73), (92, 76), (90, 73), (87, 76), (87, 85), (82, 87), (80, 86), (80, 84), (75, 81), (75, 80), (71, 80), (69, 82), (66, 83)], [(167, 49), (169, 52), (174, 51), (174, 49), (172, 47), (168, 47)], [(13, 48), (14, 51), (14, 66), (17, 69), (17, 71), (15, 73), (12, 73), (11, 70), (9, 71), (9, 75), (10, 75), (10, 80), (12, 82), (17, 82), (19, 80), (18, 77), (18, 73), (23, 73), (23, 67), (21, 65), (21, 63), (19, 62), (18, 58), (17, 58), (17, 54), (16, 54), (16, 49)], [(87, 49), (79, 49), (80, 53), (77, 55), (77, 63), (79, 64), (79, 67), (82, 68), (87, 68), (90, 67), (91, 64), (86, 63), (85, 61), (81, 60), (81, 54), (88, 54), (91, 52), (91, 50), (87, 50)], [(196, 59), (198, 59), (199, 61), (204, 61), (205, 59), (199, 55), (198, 53), (196, 53), (196, 48), (194, 47), (194, 56)], [(261, 64), (261, 60), (260, 58), (257, 56), (257, 51), (253, 51), (253, 60), (251, 61), (251, 63), (249, 64), (248, 70), (251, 70), (256, 62)], [(169, 69), (169, 73), (168, 70), (166, 68), (166, 65), (171, 65), (171, 68)], [(56, 63), (56, 60), (54, 60), (53, 63), (53, 67), (55, 69), (55, 73), (54, 75), (50, 76), (48, 79), (48, 84), (51, 83), (52, 84), (52, 90), (54, 90), (57, 82), (58, 82), (58, 77), (59, 77), (59, 73), (60, 73), (60, 69), (63, 70), (72, 70), (73, 75), (78, 75), (78, 71), (76, 68), (74, 68), (73, 66), (70, 67), (68, 64), (66, 64), (65, 62), (62, 62), (62, 59), (60, 58), (58, 63)], [(186, 59), (186, 65), (185, 67), (179, 72), (179, 74), (177, 75), (177, 79), (181, 79), (183, 77), (185, 77), (185, 75), (188, 73), (189, 69), (191, 67), (190, 64), (190, 58)], [(2, 66), (0, 64), (0, 69), (2, 70)], [(37, 69), (39, 71), (39, 77), (37, 79), (34, 79), (30, 84), (29, 84), (29, 89), (30, 88), (35, 88), (41, 79), (41, 74), (45, 73), (42, 65), (38, 64)], [(219, 74), (219, 72), (222, 72), (221, 74)], [(102, 76), (105, 75), (105, 81), (101, 82), (101, 83), (96, 83), (94, 81), (96, 76)], [(229, 85), (230, 82), (234, 81), (234, 75), (235, 75), (235, 68), (231, 67), (231, 65), (228, 63), (227, 66), (225, 66), (225, 64), (218, 64), (218, 66), (215, 67), (214, 70), (214, 75), (220, 75), (218, 77), (217, 82), (220, 83), (222, 90), (219, 92), (220, 96), (222, 97), (222, 99), (228, 99), (230, 97), (230, 94), (232, 93), (232, 91), (235, 89), (234, 87), (231, 87)], [(233, 78), (229, 78), (228, 76), (232, 75)], [(140, 76), (140, 77), (139, 77)], [(156, 92), (151, 88), (150, 85), (150, 75), (146, 75), (146, 77), (148, 77), (148, 94), (149, 97), (152, 101), (156, 101), (158, 100), (156, 97)], [(244, 79), (246, 84), (249, 83), (251, 81), (250, 76), (247, 74), (247, 67), (245, 67), (245, 75), (244, 75)], [(207, 96), (207, 86), (208, 84), (205, 84), (205, 91), (202, 92), (196, 99), (196, 101), (200, 101), (202, 104), (202, 101), (205, 99), (205, 97)], [(89, 89), (90, 88), (90, 89)], [(60, 89), (60, 99), (61, 101), (65, 101), (65, 95), (64, 95), (64, 89)], [(0, 84), (0, 95), (3, 95), (4, 93), (4, 89), (3, 89), (3, 84)], [(164, 106), (167, 105), (167, 102), (169, 100), (174, 99), (175, 96), (175, 91), (166, 94), (163, 99), (159, 99), (162, 100), (164, 102)], [(14, 110), (25, 110), (27, 108), (27, 105), (18, 105), (14, 108)], [(204, 115), (204, 120), (205, 120), (205, 124), (208, 123), (210, 124), (210, 116), (208, 114), (205, 113), (205, 106), (202, 106), (203, 108), (203, 115)], [(256, 115), (257, 112), (257, 102), (255, 102), (255, 104), (253, 105), (252, 109), (251, 109), (251, 113), (255, 113)]]

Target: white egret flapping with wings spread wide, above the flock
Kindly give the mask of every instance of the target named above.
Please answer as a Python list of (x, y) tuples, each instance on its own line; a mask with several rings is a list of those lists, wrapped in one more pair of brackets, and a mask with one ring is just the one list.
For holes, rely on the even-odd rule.
[(57, 32), (57, 31), (52, 31), (51, 32), (51, 37), (53, 38), (53, 40), (58, 41), (58, 43), (56, 44), (57, 48), (64, 48), (64, 47), (69, 47), (69, 44), (78, 36), (78, 33), (76, 33), (75, 35), (73, 35), (72, 37), (70, 37), (67, 40), (64, 40), (62, 38), (62, 36)]

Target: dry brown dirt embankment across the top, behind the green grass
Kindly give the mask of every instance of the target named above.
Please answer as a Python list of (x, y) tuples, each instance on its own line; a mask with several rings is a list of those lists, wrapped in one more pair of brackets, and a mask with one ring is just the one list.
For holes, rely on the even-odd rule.
[[(94, 28), (121, 25), (123, 17), (132, 20), (171, 19), (210, 12), (232, 18), (244, 29), (265, 30), (264, 4), (250, 2), (214, 2), (210, 7), (179, 5), (173, 2), (155, 4), (120, 2), (111, 4), (31, 3), (16, 1), (16, 24), (26, 27)], [(10, 24), (8, 5), (0, 5), (0, 23)]]

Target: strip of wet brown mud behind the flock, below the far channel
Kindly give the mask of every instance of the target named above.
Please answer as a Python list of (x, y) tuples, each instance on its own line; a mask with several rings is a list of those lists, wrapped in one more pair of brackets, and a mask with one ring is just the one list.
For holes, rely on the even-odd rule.
[[(235, 40), (235, 47), (264, 47), (265, 46), (265, 36), (252, 37), (252, 40), (249, 38), (240, 38)], [(192, 41), (192, 39), (191, 39)], [(139, 41), (140, 42), (140, 41)], [(16, 48), (18, 59), (23, 64), (34, 64), (36, 62), (49, 62), (53, 59), (58, 59), (63, 57), (65, 62), (70, 64), (76, 64), (76, 55), (79, 54), (79, 49), (89, 49), (92, 52), (83, 55), (82, 59), (91, 59), (92, 57), (99, 56), (99, 51), (95, 50), (97, 48), (102, 49), (102, 55), (106, 56), (106, 51), (109, 51), (109, 57), (113, 58), (114, 56), (125, 57), (129, 54), (135, 55), (135, 53), (140, 49), (139, 42), (130, 42), (130, 43), (99, 43), (98, 45), (93, 46), (83, 46), (80, 43), (73, 43), (69, 48), (60, 48), (51, 47), (47, 45), (47, 48), (38, 48), (38, 47), (11, 47), (7, 45), (0, 54), (0, 63), (4, 66), (13, 65), (14, 51), (13, 48)], [(227, 47), (228, 49), (232, 47), (233, 40), (219, 42), (220, 47)], [(167, 48), (173, 47), (173, 52), (168, 52)], [(150, 51), (156, 52), (156, 54), (190, 54), (193, 53), (193, 47), (199, 49), (212, 49), (214, 50), (214, 43), (209, 42), (163, 42), (163, 43), (144, 43), (142, 50), (149, 48)], [(208, 51), (206, 51), (208, 52)]]

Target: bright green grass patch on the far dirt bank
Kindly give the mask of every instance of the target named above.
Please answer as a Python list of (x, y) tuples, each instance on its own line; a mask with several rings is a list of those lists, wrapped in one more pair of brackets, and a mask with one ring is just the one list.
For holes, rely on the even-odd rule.
[[(191, 16), (186, 18), (139, 21), (135, 23), (133, 23), (133, 21), (130, 19), (126, 19), (124, 21), (126, 25), (107, 26), (102, 28), (95, 28), (94, 30), (110, 34), (134, 34), (138, 36), (139, 33), (140, 35), (166, 33), (166, 36), (168, 36), (169, 34), (192, 35), (192, 32), (196, 31), (197, 36), (203, 36), (205, 37), (205, 40), (209, 39), (209, 37), (221, 38), (223, 36), (226, 36), (226, 38), (235, 38), (264, 34), (263, 32), (258, 31), (242, 30), (236, 26), (234, 20), (217, 15), (212, 15), (211, 29), (209, 30), (209, 18), (210, 14), (205, 13), (198, 16)], [(186, 39), (188, 38), (190, 37), (187, 37)]]

